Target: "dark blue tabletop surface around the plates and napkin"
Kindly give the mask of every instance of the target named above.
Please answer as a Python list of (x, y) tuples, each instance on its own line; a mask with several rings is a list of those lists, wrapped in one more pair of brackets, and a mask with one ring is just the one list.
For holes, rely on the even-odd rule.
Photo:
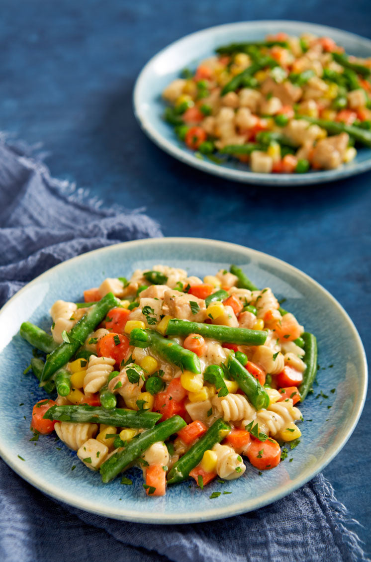
[[(226, 182), (162, 153), (134, 120), (132, 89), (159, 49), (238, 20), (318, 22), (371, 37), (369, 0), (1, 0), (0, 130), (42, 142), (52, 175), (105, 205), (147, 207), (165, 235), (236, 242), (288, 261), (349, 312), (370, 352), (371, 174), (270, 190)], [(332, 327), (336, 329), (336, 327)], [(324, 470), (371, 550), (371, 405)]]

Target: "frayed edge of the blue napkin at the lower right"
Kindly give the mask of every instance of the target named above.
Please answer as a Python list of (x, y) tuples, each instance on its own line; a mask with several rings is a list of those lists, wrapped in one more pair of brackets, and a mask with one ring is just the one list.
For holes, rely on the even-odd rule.
[(338, 535), (338, 540), (349, 551), (351, 558), (344, 560), (371, 562), (371, 559), (368, 558), (367, 553), (363, 550), (362, 545), (364, 542), (355, 531), (349, 528), (349, 525), (358, 525), (359, 527), (363, 527), (363, 525), (352, 518), (345, 505), (337, 500), (331, 482), (323, 474), (319, 474), (319, 482), (313, 482), (313, 488), (318, 502), (324, 504), (324, 500), (326, 501), (324, 509), (328, 509), (331, 513), (334, 531)]

